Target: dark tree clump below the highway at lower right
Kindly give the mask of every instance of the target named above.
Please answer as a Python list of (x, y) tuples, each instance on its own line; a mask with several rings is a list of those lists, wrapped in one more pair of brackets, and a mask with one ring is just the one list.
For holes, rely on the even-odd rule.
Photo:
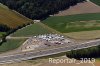
[(69, 58), (100, 58), (100, 46), (95, 46), (87, 49), (72, 50), (66, 53)]

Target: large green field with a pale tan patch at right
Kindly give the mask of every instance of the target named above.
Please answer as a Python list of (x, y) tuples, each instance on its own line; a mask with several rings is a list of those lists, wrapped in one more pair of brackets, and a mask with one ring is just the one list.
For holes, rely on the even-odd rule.
[(100, 30), (100, 13), (53, 16), (43, 23), (62, 33)]

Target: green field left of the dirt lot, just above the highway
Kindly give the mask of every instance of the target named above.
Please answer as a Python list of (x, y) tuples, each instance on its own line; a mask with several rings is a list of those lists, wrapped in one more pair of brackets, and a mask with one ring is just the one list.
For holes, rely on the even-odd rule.
[(0, 53), (18, 48), (25, 39), (9, 39), (0, 46)]

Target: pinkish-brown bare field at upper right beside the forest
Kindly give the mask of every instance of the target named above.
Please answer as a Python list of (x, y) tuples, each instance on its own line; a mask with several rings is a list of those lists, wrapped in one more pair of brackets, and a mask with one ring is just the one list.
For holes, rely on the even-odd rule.
[(69, 9), (60, 11), (58, 14), (55, 14), (55, 16), (65, 16), (84, 13), (100, 13), (100, 6), (97, 6), (92, 2), (78, 3), (77, 5), (72, 6)]

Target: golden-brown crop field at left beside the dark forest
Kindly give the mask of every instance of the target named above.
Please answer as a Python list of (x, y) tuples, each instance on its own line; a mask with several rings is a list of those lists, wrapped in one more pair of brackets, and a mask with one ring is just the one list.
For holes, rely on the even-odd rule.
[(7, 25), (11, 28), (16, 28), (29, 22), (32, 21), (0, 4), (0, 24)]

